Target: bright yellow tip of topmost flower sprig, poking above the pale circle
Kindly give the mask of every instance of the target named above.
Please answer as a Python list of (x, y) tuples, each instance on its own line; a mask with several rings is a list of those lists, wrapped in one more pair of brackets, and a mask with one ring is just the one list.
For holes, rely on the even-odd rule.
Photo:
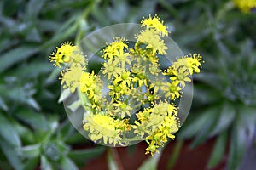
[(162, 37), (168, 36), (168, 31), (166, 30), (166, 26), (164, 25), (164, 21), (160, 21), (160, 18), (157, 15), (154, 15), (153, 18), (151, 18), (151, 15), (149, 14), (148, 19), (142, 20), (141, 26), (147, 26), (149, 28), (153, 28), (157, 32), (160, 32)]

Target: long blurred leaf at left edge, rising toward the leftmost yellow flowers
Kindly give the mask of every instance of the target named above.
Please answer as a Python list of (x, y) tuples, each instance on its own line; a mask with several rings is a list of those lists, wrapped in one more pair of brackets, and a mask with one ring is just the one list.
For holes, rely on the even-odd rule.
[(28, 59), (38, 52), (38, 48), (33, 46), (21, 46), (9, 50), (0, 57), (0, 73), (6, 71), (12, 65), (19, 64), (22, 60)]

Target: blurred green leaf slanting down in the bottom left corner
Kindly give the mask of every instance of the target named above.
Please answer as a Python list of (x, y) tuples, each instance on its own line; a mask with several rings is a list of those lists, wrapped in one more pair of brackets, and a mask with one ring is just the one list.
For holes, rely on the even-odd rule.
[[(2, 127), (0, 127), (2, 129)], [(0, 137), (0, 147), (3, 150), (4, 155), (7, 157), (9, 163), (15, 170), (23, 170), (23, 163), (17, 153), (18, 148), (10, 144), (9, 141), (5, 141)]]

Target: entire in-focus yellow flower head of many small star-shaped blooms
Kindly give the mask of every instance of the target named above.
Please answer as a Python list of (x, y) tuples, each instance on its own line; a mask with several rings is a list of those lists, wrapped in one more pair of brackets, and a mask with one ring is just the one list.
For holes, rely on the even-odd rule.
[(172, 102), (200, 72), (201, 55), (186, 55), (162, 71), (159, 57), (166, 54), (166, 26), (157, 15), (143, 19), (141, 26), (134, 44), (116, 37), (102, 50), (100, 74), (87, 71), (87, 60), (72, 43), (56, 48), (50, 61), (67, 67), (61, 71), (63, 88), (78, 89), (85, 96), (83, 127), (91, 140), (116, 146), (143, 139), (146, 154), (154, 156), (167, 139), (175, 138), (179, 123)]

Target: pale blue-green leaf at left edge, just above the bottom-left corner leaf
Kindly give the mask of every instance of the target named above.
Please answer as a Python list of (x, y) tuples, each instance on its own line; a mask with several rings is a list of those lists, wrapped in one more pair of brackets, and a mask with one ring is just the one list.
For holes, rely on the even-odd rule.
[(0, 112), (0, 136), (13, 146), (20, 146), (20, 136), (9, 120)]

